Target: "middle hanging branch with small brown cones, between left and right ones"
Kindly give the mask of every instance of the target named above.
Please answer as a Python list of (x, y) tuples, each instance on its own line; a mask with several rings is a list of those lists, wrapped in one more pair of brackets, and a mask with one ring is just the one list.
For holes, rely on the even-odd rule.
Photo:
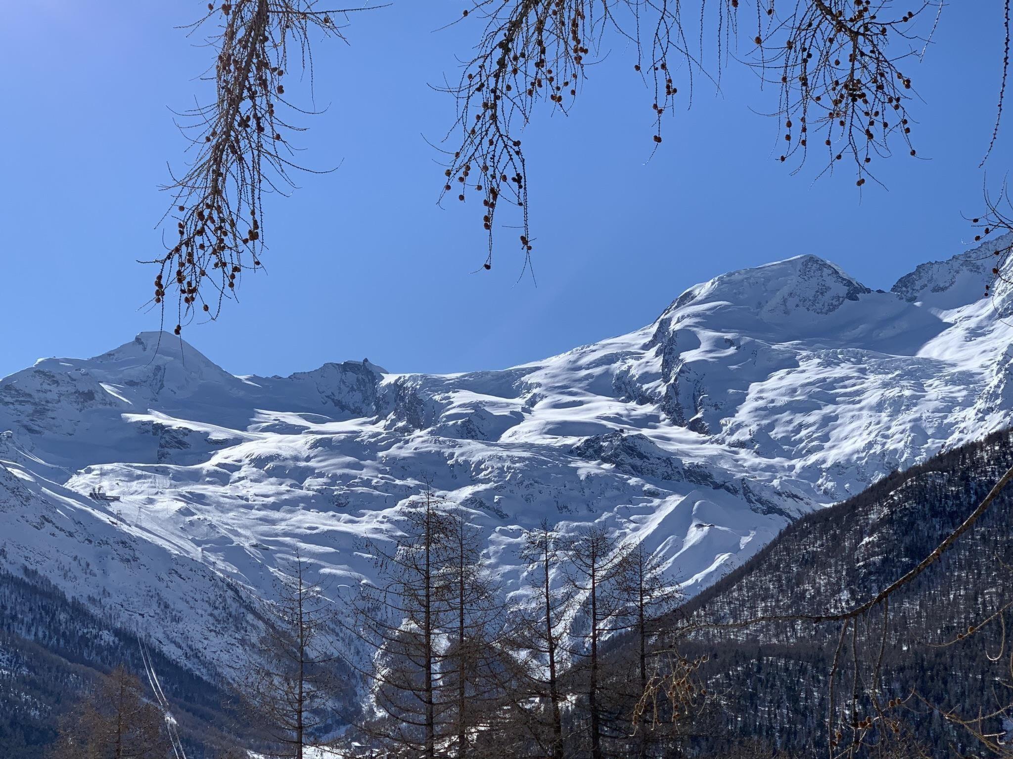
[[(722, 18), (731, 3), (737, 0), (722, 0)], [(641, 44), (640, 13), (651, 9), (650, 43)], [(543, 101), (552, 110), (569, 112), (583, 86), (592, 48), (598, 50), (608, 30), (635, 45), (634, 69), (649, 76), (654, 93), (652, 139), (655, 146), (661, 142), (661, 114), (678, 92), (670, 55), (678, 51), (680, 60), (697, 66), (679, 14), (679, 0), (478, 0), (464, 11), (466, 17), (482, 18), (485, 26), (459, 83), (444, 88), (457, 100), (451, 133), (460, 135), (460, 147), (448, 154), (441, 200), (457, 194), (463, 201), (469, 190), (479, 193), (488, 233), (484, 268), (492, 265), (493, 225), (503, 202), (520, 209), (521, 250), (525, 266), (530, 264), (528, 178), (519, 134)]]

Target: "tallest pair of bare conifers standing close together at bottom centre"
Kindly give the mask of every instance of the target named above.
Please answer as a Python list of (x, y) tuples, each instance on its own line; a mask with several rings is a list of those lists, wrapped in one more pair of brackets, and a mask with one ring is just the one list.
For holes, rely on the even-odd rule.
[(372, 650), (363, 731), (394, 754), (465, 757), (498, 697), (500, 593), (466, 510), (426, 493), (402, 530), (392, 549), (371, 544), (377, 582), (354, 601), (353, 623)]

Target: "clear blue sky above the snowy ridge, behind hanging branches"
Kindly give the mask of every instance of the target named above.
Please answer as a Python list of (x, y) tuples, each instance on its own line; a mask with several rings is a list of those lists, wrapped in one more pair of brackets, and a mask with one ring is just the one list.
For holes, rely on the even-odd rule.
[[(41, 356), (87, 356), (157, 329), (142, 307), (169, 197), (157, 187), (184, 143), (169, 108), (207, 96), (210, 62), (174, 26), (204, 0), (31, 0), (0, 25), (0, 375)], [(849, 172), (812, 182), (774, 159), (780, 131), (732, 62), (723, 89), (698, 84), (694, 105), (652, 147), (651, 99), (617, 40), (589, 71), (568, 118), (525, 137), (537, 285), (521, 277), (516, 232), (493, 269), (473, 207), (436, 205), (439, 142), (453, 102), (428, 85), (457, 71), (477, 28), (437, 31), (461, 13), (444, 0), (394, 0), (360, 13), (350, 45), (316, 47), (322, 115), (299, 138), (301, 177), (271, 201), (268, 274), (187, 341), (236, 373), (282, 373), (361, 359), (396, 371), (495, 368), (649, 323), (683, 289), (722, 271), (800, 253), (888, 287), (919, 262), (963, 249), (960, 213), (981, 209), (999, 90), (998, 3), (944, 8), (935, 44), (913, 68), (919, 155), (879, 162), (881, 189)], [(737, 73), (735, 73), (737, 72)], [(291, 94), (310, 104), (308, 90)], [(289, 94), (289, 93), (287, 93)], [(549, 114), (544, 113), (545, 116)], [(991, 159), (1000, 181), (1013, 123)]]

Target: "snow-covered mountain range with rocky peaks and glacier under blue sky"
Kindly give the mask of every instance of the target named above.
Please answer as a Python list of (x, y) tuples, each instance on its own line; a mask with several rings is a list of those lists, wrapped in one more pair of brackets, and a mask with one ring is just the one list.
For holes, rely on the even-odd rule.
[(43, 359), (0, 381), (0, 567), (220, 672), (281, 558), (355, 585), (363, 538), (395, 534), (428, 484), (474, 512), (509, 585), (548, 518), (644, 541), (693, 593), (793, 517), (1009, 424), (992, 249), (889, 292), (812, 255), (735, 271), (641, 330), (496, 371), (235, 376), (158, 333)]

